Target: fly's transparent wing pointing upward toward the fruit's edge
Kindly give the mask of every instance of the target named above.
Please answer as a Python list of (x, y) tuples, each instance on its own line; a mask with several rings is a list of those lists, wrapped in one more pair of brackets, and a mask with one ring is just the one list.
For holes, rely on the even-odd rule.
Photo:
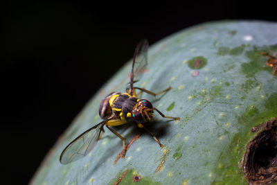
[(141, 79), (143, 72), (146, 69), (148, 64), (148, 40), (142, 39), (139, 44), (136, 46), (134, 51), (134, 58), (131, 71), (130, 79), (130, 89), (131, 94), (133, 94), (134, 82), (137, 82)]

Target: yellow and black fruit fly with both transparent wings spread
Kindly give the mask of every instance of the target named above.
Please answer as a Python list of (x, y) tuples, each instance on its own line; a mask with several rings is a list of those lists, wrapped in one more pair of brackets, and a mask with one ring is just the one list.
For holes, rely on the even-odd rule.
[(125, 152), (127, 150), (125, 138), (112, 129), (111, 126), (124, 125), (129, 122), (136, 123), (138, 127), (143, 128), (146, 132), (148, 132), (154, 140), (159, 143), (160, 147), (163, 147), (156, 136), (144, 127), (144, 124), (152, 121), (154, 111), (158, 112), (161, 116), (163, 116), (163, 118), (170, 118), (174, 120), (179, 120), (180, 118), (165, 116), (157, 108), (153, 107), (150, 101), (137, 98), (136, 89), (141, 92), (151, 94), (152, 96), (157, 96), (171, 89), (171, 87), (168, 87), (168, 89), (154, 93), (152, 91), (148, 91), (147, 89), (134, 87), (134, 82), (137, 82), (142, 73), (145, 71), (148, 64), (147, 58), (148, 41), (143, 39), (139, 42), (134, 51), (130, 82), (126, 92), (112, 92), (102, 99), (98, 113), (103, 121), (80, 134), (80, 136), (64, 148), (62, 154), (60, 155), (61, 164), (69, 164), (88, 155), (102, 136), (104, 126), (122, 140), (123, 150), (121, 153), (123, 158), (125, 157)]

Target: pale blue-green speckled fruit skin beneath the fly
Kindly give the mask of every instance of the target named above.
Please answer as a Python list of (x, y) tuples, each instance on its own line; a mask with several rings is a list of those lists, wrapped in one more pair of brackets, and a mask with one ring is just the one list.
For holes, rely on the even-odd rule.
[[(100, 122), (98, 105), (111, 91), (125, 91), (130, 61), (87, 103), (48, 153), (31, 184), (247, 184), (240, 169), (251, 128), (277, 117), (277, 76), (260, 52), (277, 53), (277, 24), (265, 21), (217, 21), (193, 26), (150, 46), (149, 71), (138, 87), (168, 93), (154, 107), (179, 122), (155, 114), (150, 130), (164, 145), (143, 133), (114, 159), (121, 141), (106, 130), (91, 155), (69, 165), (59, 163), (62, 149)], [(205, 59), (203, 67), (190, 60)], [(200, 62), (201, 63), (201, 62)], [(201, 65), (201, 64), (200, 64)], [(194, 73), (195, 71), (197, 73)], [(192, 74), (197, 74), (192, 75)], [(127, 141), (141, 132), (116, 127)], [(134, 176), (141, 177), (133, 182)]]

